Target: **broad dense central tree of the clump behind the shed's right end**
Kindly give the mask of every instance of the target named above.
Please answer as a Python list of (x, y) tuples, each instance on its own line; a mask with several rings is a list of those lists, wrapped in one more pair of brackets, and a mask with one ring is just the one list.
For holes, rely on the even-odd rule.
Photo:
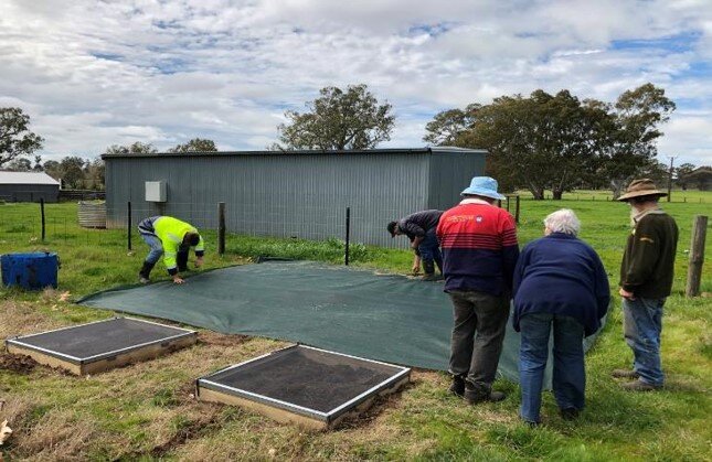
[(502, 96), (478, 109), (472, 127), (455, 144), (488, 149), (488, 172), (504, 191), (527, 187), (541, 200), (551, 190), (561, 198), (595, 169), (594, 135), (606, 117), (598, 101), (582, 103), (567, 90)]

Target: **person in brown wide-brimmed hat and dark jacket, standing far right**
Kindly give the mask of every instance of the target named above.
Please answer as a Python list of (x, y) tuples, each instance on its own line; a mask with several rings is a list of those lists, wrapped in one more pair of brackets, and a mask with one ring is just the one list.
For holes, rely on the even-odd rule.
[(633, 232), (620, 264), (624, 336), (633, 350), (633, 369), (616, 369), (613, 376), (633, 382), (631, 391), (649, 391), (663, 385), (660, 363), (662, 307), (672, 289), (678, 225), (658, 205), (666, 196), (652, 180), (635, 180), (618, 201), (630, 205)]

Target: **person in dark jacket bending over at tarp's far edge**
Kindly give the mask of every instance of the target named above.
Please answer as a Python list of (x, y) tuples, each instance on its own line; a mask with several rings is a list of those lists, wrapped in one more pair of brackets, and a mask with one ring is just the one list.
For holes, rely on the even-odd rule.
[(442, 211), (423, 211), (411, 214), (397, 222), (389, 223), (387, 230), (391, 237), (405, 235), (411, 239), (411, 248), (415, 253), (413, 258), (413, 273), (417, 275), (423, 262), (425, 276), (423, 280), (437, 280), (435, 265), (443, 273), (443, 255), (440, 245), (435, 236), (437, 224), (443, 215)]

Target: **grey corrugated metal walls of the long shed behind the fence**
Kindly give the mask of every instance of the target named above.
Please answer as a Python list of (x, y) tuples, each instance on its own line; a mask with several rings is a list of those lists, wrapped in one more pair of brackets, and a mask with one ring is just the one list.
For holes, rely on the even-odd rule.
[[(126, 226), (130, 201), (134, 224), (164, 214), (215, 228), (224, 202), (231, 233), (343, 239), (350, 207), (352, 241), (402, 247), (387, 222), (454, 205), (482, 174), (485, 154), (439, 147), (104, 155), (107, 223)], [(164, 203), (146, 201), (149, 181), (166, 183)]]

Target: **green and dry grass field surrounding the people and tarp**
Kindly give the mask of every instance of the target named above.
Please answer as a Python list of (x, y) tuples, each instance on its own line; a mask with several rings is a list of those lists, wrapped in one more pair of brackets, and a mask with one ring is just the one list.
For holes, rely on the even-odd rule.
[[(509, 393), (501, 404), (468, 407), (447, 394), (445, 374), (427, 370), (416, 370), (402, 394), (332, 432), (306, 431), (238, 408), (198, 402), (192, 397), (195, 377), (283, 345), (201, 331), (199, 344), (191, 348), (86, 378), (1, 354), (0, 422), (8, 419), (14, 432), (0, 449), (12, 460), (710, 460), (712, 236), (702, 281), (706, 297), (691, 300), (682, 292), (692, 218), (711, 214), (712, 193), (688, 192), (686, 202), (678, 201), (680, 195), (662, 203), (680, 226), (674, 293), (663, 321), (665, 390), (624, 393), (610, 378), (613, 368), (631, 359), (621, 337), (617, 297), (599, 342), (587, 355), (587, 408), (582, 418), (573, 423), (560, 419), (546, 394), (544, 426), (538, 429), (519, 422), (516, 384), (496, 385)], [(562, 206), (573, 208), (583, 222), (581, 237), (599, 253), (615, 288), (629, 229), (628, 208), (604, 196), (580, 192), (561, 202), (522, 201), (520, 241), (541, 236), (546, 214)], [(127, 251), (124, 230), (79, 228), (75, 204), (46, 206), (47, 236), (42, 243), (38, 211), (34, 204), (0, 205), (0, 254), (57, 251), (60, 289), (40, 293), (0, 289), (3, 339), (113, 315), (71, 300), (134, 283), (145, 256), (136, 236), (136, 251)], [(206, 237), (214, 241), (211, 232)], [(411, 255), (405, 250), (369, 246), (351, 250), (354, 266), (410, 269)], [(245, 264), (257, 255), (338, 264), (343, 246), (337, 239), (229, 236), (225, 257), (209, 254), (206, 266)]]

